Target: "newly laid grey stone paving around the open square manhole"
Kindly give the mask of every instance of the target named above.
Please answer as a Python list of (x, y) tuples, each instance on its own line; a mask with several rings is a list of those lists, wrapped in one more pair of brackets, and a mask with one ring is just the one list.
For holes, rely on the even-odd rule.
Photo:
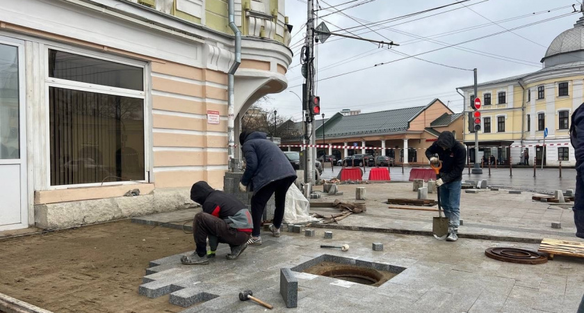
[[(368, 214), (370, 211), (359, 215)], [(225, 259), (227, 245), (219, 246), (209, 265), (180, 264), (181, 255), (190, 252), (153, 260), (149, 273), (156, 273), (145, 277), (140, 290), (149, 289), (169, 300), (171, 291), (175, 299), (202, 292), (206, 299), (211, 298), (183, 312), (265, 311), (256, 303), (238, 299), (238, 292), (245, 289), (252, 289), (255, 297), (273, 305), (274, 312), (572, 313), (584, 294), (582, 259), (555, 257), (546, 264), (525, 265), (485, 256), (490, 247), (537, 250), (533, 243), (476, 239), (449, 243), (432, 236), (346, 230), (333, 230), (333, 239), (324, 239), (324, 232), (316, 229), (312, 237), (304, 232), (282, 232), (279, 238), (262, 232), (263, 244), (248, 247), (236, 261)], [(345, 243), (350, 246), (347, 252), (319, 248), (321, 244)], [(382, 243), (383, 250), (373, 251), (373, 243)], [(354, 264), (371, 266), (370, 262), (375, 262), (405, 270), (380, 287), (371, 287), (297, 269), (293, 275), (298, 279), (298, 308), (286, 309), (279, 291), (280, 269), (295, 268), (325, 254)], [(153, 299), (143, 297), (143, 301)]]

